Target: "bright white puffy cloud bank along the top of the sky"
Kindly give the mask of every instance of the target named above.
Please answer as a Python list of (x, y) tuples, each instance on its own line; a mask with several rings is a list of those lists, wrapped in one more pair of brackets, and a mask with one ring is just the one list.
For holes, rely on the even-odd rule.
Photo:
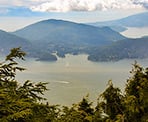
[[(30, 0), (39, 2), (39, 0)], [(148, 7), (148, 0), (40, 0), (33, 11), (68, 12)]]

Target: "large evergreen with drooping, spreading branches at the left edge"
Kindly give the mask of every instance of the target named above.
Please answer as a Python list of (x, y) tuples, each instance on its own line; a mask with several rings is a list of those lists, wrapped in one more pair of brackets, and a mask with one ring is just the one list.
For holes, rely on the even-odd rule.
[(32, 83), (27, 80), (19, 85), (16, 72), (24, 68), (18, 66), (17, 59), (24, 60), (25, 53), (14, 48), (6, 59), (0, 63), (0, 121), (29, 122), (32, 121), (34, 106), (44, 99), (40, 94), (46, 89), (46, 83)]

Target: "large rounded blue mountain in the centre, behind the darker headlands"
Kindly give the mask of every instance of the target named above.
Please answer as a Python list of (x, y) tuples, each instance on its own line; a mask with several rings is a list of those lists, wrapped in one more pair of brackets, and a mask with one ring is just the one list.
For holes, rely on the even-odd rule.
[(60, 57), (67, 53), (87, 53), (90, 47), (108, 45), (126, 38), (108, 27), (54, 19), (34, 23), (13, 34), (30, 40), (41, 52), (56, 52)]

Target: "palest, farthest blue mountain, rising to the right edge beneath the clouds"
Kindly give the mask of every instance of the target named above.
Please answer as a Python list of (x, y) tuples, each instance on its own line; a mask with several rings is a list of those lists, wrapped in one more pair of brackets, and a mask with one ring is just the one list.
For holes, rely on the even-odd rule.
[(126, 30), (126, 27), (148, 27), (148, 12), (135, 14), (126, 18), (105, 21), (105, 22), (94, 22), (89, 23), (94, 26), (108, 26), (118, 32)]

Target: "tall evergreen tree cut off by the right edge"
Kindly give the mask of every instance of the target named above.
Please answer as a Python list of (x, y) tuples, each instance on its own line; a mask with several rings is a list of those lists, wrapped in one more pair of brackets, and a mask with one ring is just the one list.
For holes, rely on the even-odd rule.
[(128, 122), (148, 121), (148, 68), (144, 69), (135, 62), (132, 77), (125, 88), (126, 120)]

